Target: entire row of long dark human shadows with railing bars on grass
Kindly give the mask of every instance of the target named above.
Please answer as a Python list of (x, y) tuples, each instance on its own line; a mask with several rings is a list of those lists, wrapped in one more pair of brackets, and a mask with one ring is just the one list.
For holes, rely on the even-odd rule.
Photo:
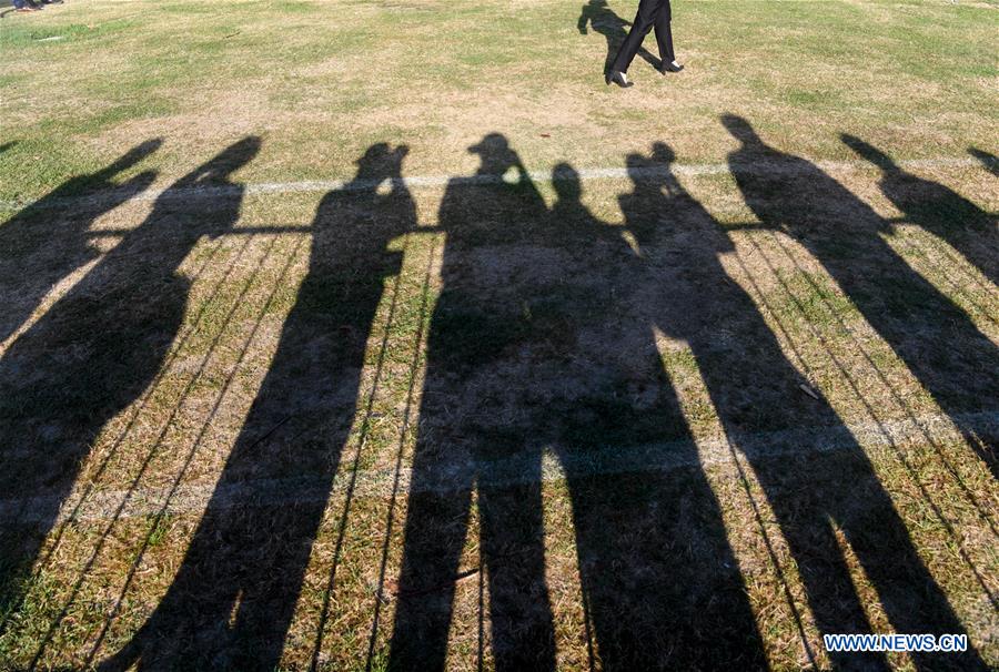
[[(798, 263), (781, 242), (789, 237), (823, 265), (958, 426), (969, 413), (997, 410), (999, 354), (995, 345), (885, 242), (882, 234), (892, 224), (814, 164), (766, 145), (745, 120), (726, 116), (723, 122), (741, 143), (730, 156), (731, 171), (760, 228), (770, 232), (770, 244), (766, 248), (758, 245), (756, 252), (766, 264), (773, 264), (774, 276), (780, 278), (775, 266), (781, 263), (775, 255), (785, 256), (784, 263)], [(991, 215), (942, 185), (906, 173), (862, 141), (850, 136), (844, 141), (880, 166), (882, 191), (907, 221), (946, 240), (996, 282), (999, 246)], [(12, 296), (4, 303), (18, 307), (3, 315), (4, 338), (33, 312), (52, 284), (93, 261), (88, 245), (91, 224), (144, 190), (153, 175), (141, 173), (124, 189), (114, 190), (119, 201), (102, 201), (82, 216), (60, 216), (65, 196), (81, 189), (112, 186), (119, 173), (157, 146), (157, 142), (145, 143), (104, 171), (68, 182), (0, 227), (2, 286), (16, 287), (17, 293), (17, 301)], [(111, 418), (125, 411), (120, 434), (95, 468), (97, 482), (105, 469), (114, 468), (118, 446), (150, 403), (159, 377), (186, 339), (198, 337), (202, 320), (222, 319), (216, 332), (221, 334), (239, 319), (241, 306), (261, 306), (242, 350), (228, 368), (222, 393), (195, 430), (195, 440), (170, 483), (171, 496), (196, 464), (199, 447), (211, 431), (225, 390), (244, 358), (253, 354), (263, 316), (286, 284), (289, 268), (303, 254), (300, 237), (283, 250), (284, 261), (276, 264), (276, 274), (263, 278), (260, 274), (269, 266), (264, 262), (280, 236), (248, 236), (235, 251), (228, 251), (230, 265), (224, 271), (216, 267), (226, 256), (218, 242), (199, 262), (193, 281), (179, 273), (199, 242), (222, 241), (233, 232), (242, 191), (229, 176), (259, 149), (256, 139), (246, 139), (179, 180), (158, 198), (145, 221), (125, 233), (20, 334), (0, 360), (4, 462), (0, 491), (4, 500), (31, 508), (24, 511), (30, 520), (18, 523), (14, 515), (3, 523), (4, 624), (23, 603), (32, 568), (43, 566), (58, 550), (69, 525), (57, 525), (60, 507), (73, 489), (93, 438)], [(630, 242), (583, 205), (582, 186), (572, 166), (556, 169), (558, 198), (549, 208), (502, 135), (487, 135), (471, 151), (481, 159), (477, 175), (504, 175), (513, 170), (518, 177), (513, 183), (455, 179), (441, 205), (440, 230), (446, 233), (440, 253), (443, 291), (430, 315), (427, 333), (421, 330), (416, 336), (417, 345), (426, 343), (427, 362), (413, 474), (416, 479), (440, 479), (446, 474), (447, 479), (411, 485), (408, 513), (398, 523), (404, 526), (404, 551), (394, 590), (397, 601), (387, 664), (394, 669), (444, 666), (474, 491), (496, 665), (553, 669), (555, 625), (545, 584), (542, 454), (553, 450), (568, 464), (581, 451), (614, 451), (693, 436), (663, 368), (657, 333), (689, 344), (734, 454), (741, 452), (739, 437), (841, 421), (827, 400), (800, 393), (807, 379), (787, 359), (759, 312), (766, 308), (771, 317), (777, 316), (783, 330), (780, 308), (766, 305), (765, 292), (757, 293), (764, 304), (758, 306), (726, 273), (722, 256), (734, 250), (733, 242), (673, 176), (674, 156), (666, 145), (653, 145), (649, 155), (628, 156), (634, 187), (619, 197), (619, 205)], [(261, 476), (300, 475), (329, 491), (359, 414), (365, 418), (361, 422), (363, 442), (375, 396), (375, 390), (366, 399), (360, 394), (369, 336), (377, 307), (387, 298), (391, 322), (400, 299), (398, 281), (390, 278), (400, 275), (405, 251), (395, 251), (390, 242), (416, 231), (416, 208), (400, 180), (404, 156), (404, 147), (372, 146), (359, 160), (355, 181), (323, 197), (310, 227), (312, 247), (305, 279), (216, 492), (232, 492), (226, 486), (258, 482)], [(387, 193), (369, 186), (385, 179), (392, 181)], [(178, 197), (200, 185), (228, 189), (215, 190), (210, 198)], [(67, 223), (60, 226), (58, 238), (46, 225), (51, 221)], [(226, 291), (233, 269), (258, 238), (262, 248), (252, 253), (259, 255), (259, 269), (228, 303), (228, 313), (211, 313), (206, 306), (213, 305), (212, 297)], [(29, 258), (30, 268), (18, 264)], [(219, 279), (213, 281), (202, 304), (205, 307), (194, 315), (192, 326), (182, 329), (192, 283), (209, 272)], [(430, 309), (430, 274), (427, 267), (423, 312)], [(801, 276), (811, 277), (804, 272)], [(793, 303), (798, 301), (799, 291), (784, 289)], [(814, 289), (823, 295), (818, 286)], [(252, 302), (246, 301), (250, 293)], [(801, 313), (811, 309), (800, 303), (796, 307)], [(823, 309), (830, 319), (841, 319), (835, 307)], [(844, 334), (850, 333), (847, 325), (841, 326)], [(784, 336), (783, 340), (795, 343), (794, 336)], [(824, 338), (815, 329), (814, 339), (833, 352), (834, 345), (823, 343)], [(202, 347), (205, 354), (193, 365), (196, 375), (175, 396), (174, 413), (209, 366), (215, 346)], [(385, 343), (380, 352), (375, 385), (384, 365)], [(876, 358), (859, 339), (856, 352), (880, 374)], [(806, 362), (795, 355), (799, 364)], [(850, 367), (838, 359), (836, 365), (862, 399), (864, 390), (850, 377)], [(411, 380), (416, 379), (415, 368), (414, 360)], [(895, 389), (885, 376), (882, 383)], [(405, 418), (417, 394), (411, 385)], [(895, 397), (907, 408), (904, 397), (898, 393)], [(879, 419), (874, 403), (868, 410), (872, 419)], [(910, 417), (918, 425), (916, 414)], [(164, 444), (171, 420), (149, 440), (133, 488)], [(966, 429), (969, 445), (995, 472), (996, 437)], [(926, 439), (935, 446), (928, 431)], [(694, 449), (693, 441), (677, 446), (689, 447), (678, 450)], [(402, 445), (397, 468), (401, 449)], [(513, 455), (533, 456), (526, 460), (533, 465), (528, 469), (533, 476), (522, 474), (514, 483), (497, 477), (492, 466)], [(919, 483), (917, 468), (901, 449), (898, 456)], [(897, 631), (963, 632), (858, 445), (781, 459), (749, 451), (740, 457), (777, 517), (820, 632), (871, 629), (837, 533), (846, 536)], [(940, 459), (960, 482), (959, 469), (947, 461), (944, 450)], [(688, 461), (697, 464), (696, 455)], [(356, 476), (356, 467), (349, 469), (351, 478)], [(587, 634), (595, 643), (592, 655), (598, 656), (602, 666), (766, 666), (763, 639), (726, 538), (719, 503), (699, 469), (626, 475), (569, 469), (567, 474), (583, 607), (592, 629)], [(255, 480), (248, 481), (249, 475)], [(321, 661), (326, 623), (335, 619), (331, 595), (352, 486), (353, 480), (337, 526), (314, 665)], [(746, 491), (751, 500), (748, 480)], [(149, 669), (262, 670), (278, 664), (326, 506), (312, 500), (271, 506), (252, 487), (239, 492), (236, 501), (213, 497), (172, 586), (145, 624), (117, 654), (97, 661), (147, 552), (147, 538), (88, 663), (100, 662), (109, 670), (137, 663)], [(51, 497), (39, 498), (40, 493)], [(982, 510), (995, 536), (988, 511), (970, 489), (965, 493)], [(393, 488), (393, 500), (396, 495), (397, 488)], [(924, 495), (931, 501), (925, 489)], [(79, 509), (89, 496), (84, 489), (74, 507)], [(69, 599), (40, 639), (32, 665), (69, 613), (125, 503), (111, 517), (83, 563)], [(158, 528), (169, 503), (170, 496), (153, 517), (151, 530)], [(944, 511), (935, 513), (949, 525)], [(758, 510), (756, 516), (766, 537)], [(69, 521), (72, 518), (70, 511)], [(387, 580), (387, 543), (394, 525), (390, 512), (379, 571), (380, 595)], [(959, 538), (956, 530), (948, 530)], [(48, 550), (40, 557), (46, 538), (50, 539)], [(766, 543), (770, 546), (769, 538)], [(972, 572), (980, 572), (967, 556), (965, 560)], [(778, 573), (783, 572), (776, 554), (774, 561)], [(995, 605), (987, 578), (979, 574), (979, 581)], [(374, 617), (369, 664), (380, 620), (381, 607)], [(808, 651), (808, 655), (814, 659), (816, 653)], [(833, 654), (837, 666), (858, 663), (855, 658)], [(865, 658), (874, 666), (887, 664), (879, 655)], [(973, 650), (947, 658), (914, 654), (914, 661), (920, 669), (983, 666)]]

